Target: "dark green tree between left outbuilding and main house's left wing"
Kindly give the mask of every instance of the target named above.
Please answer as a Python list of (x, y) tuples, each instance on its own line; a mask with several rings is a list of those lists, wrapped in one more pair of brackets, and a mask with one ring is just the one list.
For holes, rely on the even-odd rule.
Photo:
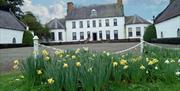
[(22, 16), (21, 21), (29, 26), (29, 30), (33, 31), (40, 39), (46, 39), (50, 37), (49, 29), (38, 21), (38, 19), (31, 13), (26, 12)]

